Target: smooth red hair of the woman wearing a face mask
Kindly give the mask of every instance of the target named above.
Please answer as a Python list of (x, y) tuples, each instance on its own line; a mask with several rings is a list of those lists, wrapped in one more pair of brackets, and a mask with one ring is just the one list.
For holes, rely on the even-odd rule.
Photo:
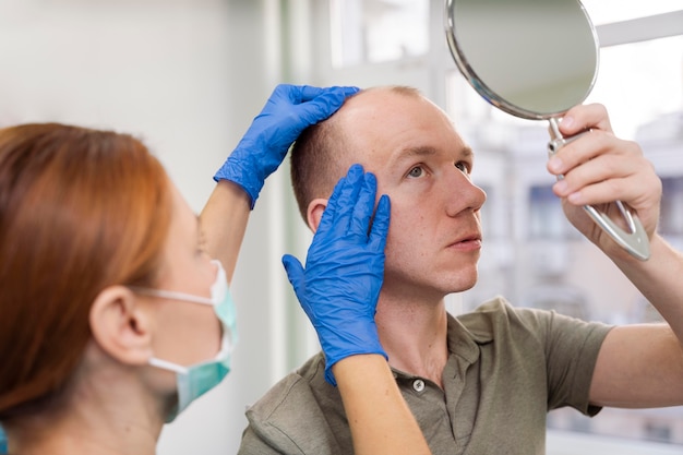
[(91, 339), (98, 292), (154, 284), (169, 184), (130, 135), (0, 130), (0, 420), (59, 396)]

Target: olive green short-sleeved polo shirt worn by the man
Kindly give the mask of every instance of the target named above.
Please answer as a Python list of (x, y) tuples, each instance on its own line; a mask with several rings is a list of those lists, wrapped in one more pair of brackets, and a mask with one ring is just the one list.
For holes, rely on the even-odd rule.
[[(448, 315), (443, 390), (394, 374), (433, 454), (544, 454), (549, 410), (599, 411), (588, 393), (609, 330), (496, 298)], [(352, 454), (342, 398), (324, 370), (317, 354), (251, 406), (239, 454)]]

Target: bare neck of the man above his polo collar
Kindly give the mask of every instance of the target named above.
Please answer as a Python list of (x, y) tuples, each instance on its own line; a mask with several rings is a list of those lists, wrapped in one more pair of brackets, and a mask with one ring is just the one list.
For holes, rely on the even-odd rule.
[(380, 299), (375, 321), (393, 368), (443, 387), (442, 373), (448, 360), (447, 316), (443, 300), (416, 303)]

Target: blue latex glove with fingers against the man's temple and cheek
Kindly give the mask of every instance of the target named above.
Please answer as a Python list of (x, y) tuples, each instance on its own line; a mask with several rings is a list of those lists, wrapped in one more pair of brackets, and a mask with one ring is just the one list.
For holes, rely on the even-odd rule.
[[(374, 313), (384, 278), (390, 200), (376, 179), (354, 165), (335, 187), (305, 260), (283, 256), (289, 282), (325, 354), (325, 379), (336, 385), (332, 366), (357, 354), (386, 354)], [(370, 229), (370, 225), (372, 227)], [(370, 234), (368, 234), (370, 229)]]

